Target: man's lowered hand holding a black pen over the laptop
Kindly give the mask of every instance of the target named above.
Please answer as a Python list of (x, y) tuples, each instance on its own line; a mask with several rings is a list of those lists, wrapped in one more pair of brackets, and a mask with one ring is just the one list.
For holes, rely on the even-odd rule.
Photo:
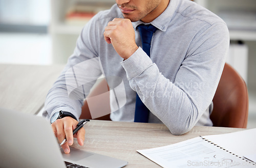
[[(55, 136), (58, 138), (59, 142), (62, 142), (66, 137), (67, 142), (63, 144), (61, 147), (65, 153), (70, 153), (69, 146), (73, 145), (73, 129), (76, 128), (78, 121), (73, 119), (72, 117), (64, 117), (62, 119), (58, 119), (52, 123), (52, 129)], [(77, 142), (80, 146), (83, 146), (84, 136), (86, 134), (86, 130), (81, 128), (74, 137), (77, 138)]]

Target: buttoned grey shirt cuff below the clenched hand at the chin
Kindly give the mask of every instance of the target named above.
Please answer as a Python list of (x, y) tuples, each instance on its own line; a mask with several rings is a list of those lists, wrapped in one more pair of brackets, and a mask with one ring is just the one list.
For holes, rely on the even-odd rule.
[(141, 74), (148, 67), (152, 66), (153, 62), (148, 55), (139, 47), (129, 59), (121, 62), (126, 71), (127, 79), (130, 80)]

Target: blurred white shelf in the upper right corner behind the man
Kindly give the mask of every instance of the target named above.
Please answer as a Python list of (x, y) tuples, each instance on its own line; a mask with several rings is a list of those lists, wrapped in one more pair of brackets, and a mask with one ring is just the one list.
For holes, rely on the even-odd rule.
[(256, 41), (256, 4), (254, 0), (195, 0), (220, 16), (229, 29), (230, 40)]

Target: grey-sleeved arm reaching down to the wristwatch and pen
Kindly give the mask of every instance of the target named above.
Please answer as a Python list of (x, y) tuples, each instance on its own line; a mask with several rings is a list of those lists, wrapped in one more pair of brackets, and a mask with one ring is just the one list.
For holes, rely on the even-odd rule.
[(48, 117), (52, 112), (65, 110), (79, 118), (83, 99), (102, 73), (97, 52), (98, 35), (92, 33), (92, 30), (96, 31), (95, 20), (83, 28), (74, 53), (47, 95), (45, 108)]

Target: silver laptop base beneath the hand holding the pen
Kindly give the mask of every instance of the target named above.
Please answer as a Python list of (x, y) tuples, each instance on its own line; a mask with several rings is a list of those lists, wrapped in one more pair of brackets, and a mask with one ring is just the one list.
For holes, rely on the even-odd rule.
[(88, 167), (122, 167), (127, 161), (112, 158), (97, 153), (70, 148), (70, 153), (65, 154), (61, 149), (63, 160)]

